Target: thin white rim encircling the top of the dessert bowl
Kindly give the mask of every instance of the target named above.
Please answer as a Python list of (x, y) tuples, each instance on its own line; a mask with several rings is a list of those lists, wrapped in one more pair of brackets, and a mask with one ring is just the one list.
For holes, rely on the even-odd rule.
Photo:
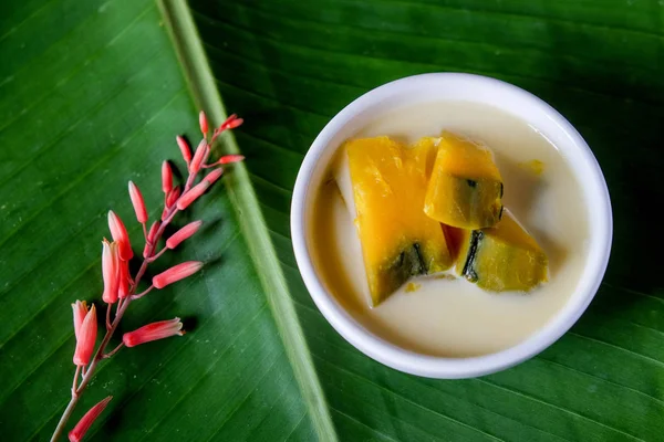
[[(584, 176), (580, 177), (575, 171), (574, 175), (581, 182), (591, 183), (595, 189), (591, 201), (587, 201), (587, 203), (593, 203), (591, 214), (594, 240), (589, 250), (585, 269), (574, 293), (570, 295), (570, 298), (554, 317), (521, 343), (498, 352), (466, 358), (418, 354), (398, 347), (369, 332), (324, 287), (315, 272), (307, 244), (305, 217), (308, 196), (311, 191), (310, 182), (318, 162), (328, 149), (332, 138), (353, 117), (381, 101), (403, 93), (404, 90), (417, 90), (418, 87), (435, 85), (437, 82), (449, 81), (467, 83), (468, 86), (481, 85), (483, 87), (500, 90), (502, 93), (512, 94), (515, 97), (528, 103), (529, 106), (546, 114), (557, 126), (557, 129), (564, 133), (564, 136), (570, 139), (569, 146), (558, 147), (561, 150), (579, 149), (579, 154), (583, 157), (587, 166)], [(295, 261), (304, 284), (317, 307), (332, 327), (360, 351), (385, 366), (411, 375), (439, 379), (471, 378), (505, 370), (533, 357), (557, 341), (574, 325), (593, 299), (609, 263), (613, 235), (609, 189), (594, 155), (579, 131), (558, 110), (536, 95), (497, 78), (466, 73), (429, 73), (395, 80), (369, 91), (339, 112), (317, 136), (302, 161), (291, 200), (290, 224)]]

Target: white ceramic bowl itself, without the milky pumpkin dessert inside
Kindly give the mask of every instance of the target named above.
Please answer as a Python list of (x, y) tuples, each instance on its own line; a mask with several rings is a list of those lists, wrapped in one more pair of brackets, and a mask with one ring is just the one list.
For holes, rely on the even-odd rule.
[[(587, 266), (577, 291), (563, 308), (521, 344), (470, 358), (421, 355), (375, 336), (357, 323), (322, 284), (308, 243), (312, 200), (339, 146), (385, 109), (440, 101), (484, 103), (510, 113), (536, 127), (569, 159), (579, 179), (592, 225)], [(291, 235), (298, 266), (307, 288), (323, 316), (349, 343), (388, 367), (429, 378), (470, 378), (512, 367), (559, 339), (585, 311), (604, 275), (612, 239), (611, 202), (606, 182), (592, 151), (556, 109), (511, 84), (470, 74), (435, 73), (411, 76), (380, 86), (341, 110), (315, 138), (295, 181), (291, 204)]]

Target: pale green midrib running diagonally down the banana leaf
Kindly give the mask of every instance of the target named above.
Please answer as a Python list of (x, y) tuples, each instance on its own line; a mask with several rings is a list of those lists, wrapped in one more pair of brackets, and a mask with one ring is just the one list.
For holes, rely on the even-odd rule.
[[(184, 0), (159, 0), (158, 4), (195, 103), (206, 110), (212, 122), (221, 122), (226, 112), (188, 6)], [(224, 144), (229, 152), (239, 152), (232, 136), (226, 137)], [(257, 267), (312, 425), (319, 440), (336, 441), (329, 406), (311, 352), (304, 340), (286, 277), (276, 264), (277, 253), (243, 165), (238, 165), (234, 176), (227, 181), (226, 190)]]

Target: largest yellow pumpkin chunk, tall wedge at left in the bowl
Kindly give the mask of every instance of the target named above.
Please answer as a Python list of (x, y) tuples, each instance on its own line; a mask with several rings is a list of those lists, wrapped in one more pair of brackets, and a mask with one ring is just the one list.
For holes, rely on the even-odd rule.
[(423, 211), (438, 138), (406, 147), (388, 137), (345, 145), (369, 288), (374, 306), (415, 275), (452, 266), (440, 224)]

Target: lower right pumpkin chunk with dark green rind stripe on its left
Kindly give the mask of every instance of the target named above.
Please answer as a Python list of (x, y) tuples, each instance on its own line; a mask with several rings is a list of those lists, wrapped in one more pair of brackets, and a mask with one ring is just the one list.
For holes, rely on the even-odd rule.
[(456, 271), (479, 287), (528, 292), (547, 281), (547, 254), (508, 211), (492, 228), (456, 233), (460, 236)]

